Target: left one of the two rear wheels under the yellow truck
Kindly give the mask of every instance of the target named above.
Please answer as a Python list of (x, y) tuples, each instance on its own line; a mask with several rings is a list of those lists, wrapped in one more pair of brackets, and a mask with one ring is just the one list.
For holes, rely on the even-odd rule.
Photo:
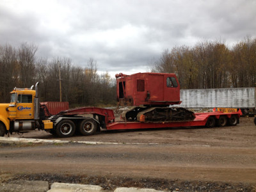
[(76, 125), (71, 120), (61, 120), (56, 127), (56, 134), (60, 138), (69, 138), (74, 135)]

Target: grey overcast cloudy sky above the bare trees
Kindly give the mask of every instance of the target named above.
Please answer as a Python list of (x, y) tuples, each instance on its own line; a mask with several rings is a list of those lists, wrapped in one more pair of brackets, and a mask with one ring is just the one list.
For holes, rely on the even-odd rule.
[(111, 75), (146, 72), (164, 49), (256, 36), (256, 0), (0, 0), (0, 45), (22, 42), (36, 56), (97, 61)]

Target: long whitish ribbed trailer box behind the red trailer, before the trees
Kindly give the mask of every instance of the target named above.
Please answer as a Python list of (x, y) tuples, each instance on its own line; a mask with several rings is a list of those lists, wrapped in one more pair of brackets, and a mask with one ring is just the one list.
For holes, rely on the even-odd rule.
[(180, 90), (183, 108), (255, 108), (255, 88)]

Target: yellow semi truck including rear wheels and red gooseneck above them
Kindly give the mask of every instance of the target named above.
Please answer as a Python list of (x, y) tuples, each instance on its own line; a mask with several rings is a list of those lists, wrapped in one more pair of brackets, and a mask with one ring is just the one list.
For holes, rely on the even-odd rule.
[[(12, 132), (28, 132), (35, 129), (51, 132), (59, 137), (70, 137), (77, 131), (93, 134), (106, 127), (106, 120), (113, 120), (113, 111), (101, 108), (79, 108), (45, 116), (45, 106), (40, 106), (38, 83), (31, 88), (14, 88), (10, 104), (0, 104), (0, 136)], [(94, 111), (93, 111), (94, 110)], [(97, 110), (95, 112), (95, 110)], [(92, 114), (86, 116), (86, 114)], [(108, 114), (108, 118), (105, 118)], [(112, 118), (109, 118), (112, 116)]]

